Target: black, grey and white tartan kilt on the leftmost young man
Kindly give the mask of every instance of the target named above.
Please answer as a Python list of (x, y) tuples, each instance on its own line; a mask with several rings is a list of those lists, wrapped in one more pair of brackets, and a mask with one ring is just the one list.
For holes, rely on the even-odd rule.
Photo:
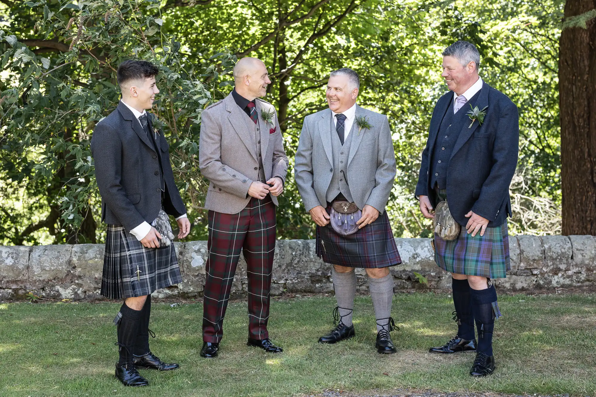
[(108, 225), (101, 294), (110, 299), (144, 296), (182, 283), (174, 244), (145, 248), (122, 226)]

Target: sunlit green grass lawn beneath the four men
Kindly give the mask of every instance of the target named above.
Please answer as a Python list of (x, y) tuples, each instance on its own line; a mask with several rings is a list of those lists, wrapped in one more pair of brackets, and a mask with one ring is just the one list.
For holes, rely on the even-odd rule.
[[(468, 376), (473, 353), (427, 353), (455, 334), (447, 295), (399, 294), (393, 332), (399, 352), (374, 350), (369, 297), (358, 297), (356, 337), (319, 345), (333, 327), (333, 297), (272, 302), (269, 332), (284, 353), (246, 346), (246, 302), (229, 305), (216, 359), (202, 359), (203, 306), (153, 305), (154, 353), (181, 364), (176, 371), (142, 370), (150, 387), (131, 389), (114, 378), (116, 303), (0, 304), (1, 396), (291, 396), (394, 387), (442, 391), (596, 395), (596, 296), (502, 296), (505, 317), (495, 331), (496, 373)], [(388, 374), (385, 375), (384, 373)]]

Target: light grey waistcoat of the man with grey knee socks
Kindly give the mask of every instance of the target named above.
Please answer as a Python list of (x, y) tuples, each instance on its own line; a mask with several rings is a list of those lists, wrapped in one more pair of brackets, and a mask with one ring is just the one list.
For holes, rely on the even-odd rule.
[[(331, 183), (327, 188), (327, 194), (325, 194), (325, 198), (327, 199), (328, 203), (331, 203), (334, 198), (340, 193), (343, 194), (343, 197), (346, 197), (347, 201), (350, 203), (353, 200), (352, 193), (350, 193), (350, 187), (347, 185), (346, 182), (346, 175), (347, 175), (347, 157), (350, 154), (350, 144), (352, 143), (352, 137), (354, 136), (354, 126), (356, 122), (352, 124), (352, 129), (350, 130), (350, 134), (347, 135), (347, 138), (344, 139), (343, 145), (342, 141), (339, 140), (337, 136), (337, 129), (333, 123), (333, 119), (331, 119), (331, 149), (333, 153), (333, 177), (331, 178)], [(355, 176), (356, 177), (356, 176)]]

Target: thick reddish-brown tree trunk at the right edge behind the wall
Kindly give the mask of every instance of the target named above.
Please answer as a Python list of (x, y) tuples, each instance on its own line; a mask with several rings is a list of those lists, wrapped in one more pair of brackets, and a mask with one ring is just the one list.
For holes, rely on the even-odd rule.
[[(596, 8), (567, 0), (564, 17)], [(570, 27), (559, 43), (561, 189), (564, 235), (596, 235), (596, 19)]]

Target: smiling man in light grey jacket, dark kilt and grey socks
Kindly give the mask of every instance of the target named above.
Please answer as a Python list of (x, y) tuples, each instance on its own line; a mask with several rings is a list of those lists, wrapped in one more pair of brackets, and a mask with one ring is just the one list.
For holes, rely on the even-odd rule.
[[(316, 254), (333, 265), (339, 324), (320, 343), (354, 336), (352, 311), (356, 293), (354, 268), (365, 268), (375, 317), (379, 353), (395, 353), (390, 337), (393, 276), (401, 263), (385, 205), (395, 179), (395, 153), (389, 122), (383, 114), (356, 104), (360, 79), (352, 69), (331, 72), (329, 108), (305, 117), (294, 174), (306, 210), (316, 223)], [(362, 211), (358, 231), (343, 235), (330, 225), (334, 202), (347, 201)]]

